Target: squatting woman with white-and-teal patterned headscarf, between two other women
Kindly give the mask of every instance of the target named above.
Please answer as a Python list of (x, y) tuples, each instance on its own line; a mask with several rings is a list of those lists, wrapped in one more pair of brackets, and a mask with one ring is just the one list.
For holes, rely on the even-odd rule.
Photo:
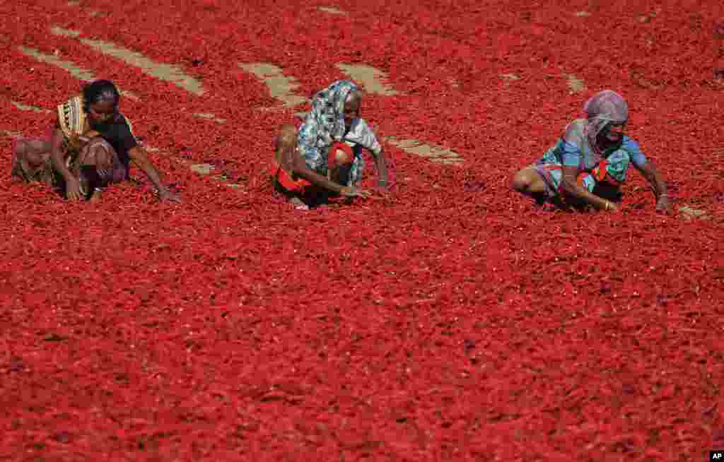
[(374, 132), (360, 117), (362, 93), (349, 80), (338, 80), (312, 99), (299, 131), (282, 127), (274, 147), (274, 187), (296, 208), (308, 210), (327, 194), (368, 197), (357, 188), (362, 179), (362, 149), (369, 150), (387, 189), (387, 163)]

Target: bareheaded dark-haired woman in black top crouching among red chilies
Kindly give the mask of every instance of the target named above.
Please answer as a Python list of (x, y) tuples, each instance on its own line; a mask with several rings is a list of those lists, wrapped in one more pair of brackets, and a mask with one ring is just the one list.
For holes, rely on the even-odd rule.
[(109, 80), (96, 80), (81, 95), (58, 106), (58, 119), (44, 139), (21, 139), (14, 146), (12, 176), (64, 183), (69, 200), (100, 200), (107, 185), (128, 179), (130, 161), (153, 182), (161, 200), (180, 202), (161, 183), (156, 167), (118, 111), (120, 95)]

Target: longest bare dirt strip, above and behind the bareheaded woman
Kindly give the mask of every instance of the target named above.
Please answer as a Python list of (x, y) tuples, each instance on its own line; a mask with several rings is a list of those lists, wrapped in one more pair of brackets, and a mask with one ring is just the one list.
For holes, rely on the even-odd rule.
[[(51, 33), (54, 35), (60, 35), (63, 37), (78, 38), (80, 32), (77, 30), (63, 29), (62, 27), (51, 27)], [(172, 64), (157, 63), (151, 59), (146, 58), (138, 51), (132, 51), (122, 46), (117, 46), (114, 43), (106, 42), (103, 40), (91, 40), (90, 38), (79, 38), (81, 43), (90, 46), (102, 54), (113, 56), (114, 58), (121, 59), (127, 64), (135, 67), (139, 67), (143, 72), (151, 77), (157, 79), (166, 80), (172, 82), (177, 87), (193, 93), (194, 95), (203, 95), (204, 90), (201, 86), (201, 82), (195, 78), (184, 74), (184, 72)]]

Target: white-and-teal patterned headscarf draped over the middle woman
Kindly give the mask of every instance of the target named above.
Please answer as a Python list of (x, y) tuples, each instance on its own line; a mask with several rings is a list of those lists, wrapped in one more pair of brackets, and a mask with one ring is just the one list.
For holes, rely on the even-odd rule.
[(298, 147), (305, 158), (323, 164), (329, 146), (345, 136), (345, 101), (354, 90), (358, 87), (350, 80), (337, 80), (314, 95), (312, 109), (298, 136)]

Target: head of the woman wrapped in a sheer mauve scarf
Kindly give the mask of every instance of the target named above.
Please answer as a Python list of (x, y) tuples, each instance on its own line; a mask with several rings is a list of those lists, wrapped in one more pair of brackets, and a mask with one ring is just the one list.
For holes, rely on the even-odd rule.
[(593, 95), (586, 104), (588, 137), (594, 147), (610, 145), (623, 140), (628, 122), (628, 104), (613, 90), (603, 90)]

